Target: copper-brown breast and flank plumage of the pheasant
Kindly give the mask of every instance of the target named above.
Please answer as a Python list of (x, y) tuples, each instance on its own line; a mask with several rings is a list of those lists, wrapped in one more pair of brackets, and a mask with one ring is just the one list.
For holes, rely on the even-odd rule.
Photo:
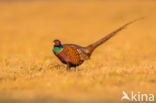
[(63, 45), (63, 50), (56, 54), (63, 63), (71, 63), (72, 65), (80, 65), (83, 60), (80, 57), (78, 48), (71, 45)]

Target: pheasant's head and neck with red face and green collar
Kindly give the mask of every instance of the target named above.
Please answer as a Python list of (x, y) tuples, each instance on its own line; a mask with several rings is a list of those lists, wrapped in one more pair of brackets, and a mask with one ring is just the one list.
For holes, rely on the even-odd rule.
[(53, 48), (53, 52), (58, 54), (63, 50), (63, 46), (61, 44), (60, 40), (54, 40), (54, 48)]

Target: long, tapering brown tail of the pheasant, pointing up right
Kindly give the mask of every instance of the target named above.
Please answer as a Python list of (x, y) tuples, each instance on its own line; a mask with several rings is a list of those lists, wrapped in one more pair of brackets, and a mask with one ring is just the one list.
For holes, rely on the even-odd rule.
[(141, 20), (141, 19), (144, 19), (145, 17), (142, 17), (142, 18), (138, 18), (138, 19), (135, 19), (133, 21), (130, 21), (128, 23), (126, 23), (125, 25), (121, 26), (120, 28), (116, 29), (115, 31), (109, 33), (108, 35), (106, 35), (105, 37), (103, 37), (102, 39), (100, 39), (99, 41), (93, 43), (93, 44), (90, 44), (89, 46), (87, 46), (87, 50), (89, 52), (89, 56), (92, 54), (92, 52), (94, 51), (95, 48), (97, 48), (99, 45), (105, 43), (107, 40), (109, 40), (110, 38), (112, 38), (114, 35), (116, 35), (119, 31), (121, 30), (124, 30), (128, 25), (138, 21), (138, 20)]

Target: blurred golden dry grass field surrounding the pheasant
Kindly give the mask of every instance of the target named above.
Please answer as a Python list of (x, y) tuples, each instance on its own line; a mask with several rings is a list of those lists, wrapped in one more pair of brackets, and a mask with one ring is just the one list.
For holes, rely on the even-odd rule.
[[(79, 71), (52, 53), (54, 39), (87, 46), (142, 16)], [(117, 103), (123, 90), (156, 94), (156, 1), (0, 2), (0, 103)]]

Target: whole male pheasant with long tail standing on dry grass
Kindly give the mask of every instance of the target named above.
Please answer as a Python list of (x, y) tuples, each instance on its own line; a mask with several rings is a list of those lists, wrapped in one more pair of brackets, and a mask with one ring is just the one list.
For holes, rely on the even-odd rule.
[(119, 31), (125, 29), (128, 25), (140, 19), (143, 18), (139, 18), (131, 22), (128, 22), (127, 24), (121, 26), (120, 28), (106, 35), (105, 37), (98, 40), (97, 42), (88, 45), (87, 47), (81, 47), (75, 44), (61, 44), (60, 40), (54, 40), (54, 48), (52, 51), (60, 59), (62, 63), (67, 64), (67, 70), (70, 70), (71, 67), (77, 67), (81, 65), (85, 60), (90, 59), (90, 56), (92, 55), (93, 51), (98, 46), (105, 43), (107, 40), (112, 38)]

